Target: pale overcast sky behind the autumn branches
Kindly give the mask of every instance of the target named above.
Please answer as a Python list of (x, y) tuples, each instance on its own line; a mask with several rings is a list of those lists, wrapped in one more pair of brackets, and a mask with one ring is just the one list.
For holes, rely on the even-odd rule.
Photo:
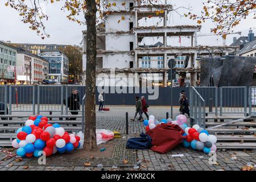
[[(118, 0), (119, 1), (119, 0)], [(121, 0), (120, 0), (121, 1)], [(202, 2), (206, 0), (172, 0), (172, 5), (179, 6), (192, 6), (192, 13), (200, 14), (203, 7)], [(65, 17), (65, 13), (60, 10), (60, 3), (47, 5), (46, 12), (49, 15), (49, 20), (46, 23), (46, 31), (51, 35), (50, 38), (42, 40), (36, 32), (28, 28), (28, 24), (20, 21), (18, 13), (5, 6), (5, 2), (0, 1), (0, 40), (11, 41), (13, 43), (44, 43), (44, 44), (80, 44), (82, 39), (82, 30), (85, 26), (79, 26), (77, 23), (69, 21)], [(182, 11), (182, 10), (181, 10)], [(190, 19), (181, 18), (175, 13), (171, 13), (168, 19), (168, 25), (177, 24), (196, 24)], [(199, 34), (210, 33), (210, 28), (214, 24), (207, 22), (203, 24)], [(243, 20), (235, 31), (241, 31), (242, 35), (247, 35), (249, 28), (254, 28), (256, 33), (256, 20), (247, 18)], [(229, 35), (227, 44), (232, 43), (233, 37), (239, 35)], [(222, 44), (220, 36), (204, 36), (199, 38), (199, 44), (218, 46)]]

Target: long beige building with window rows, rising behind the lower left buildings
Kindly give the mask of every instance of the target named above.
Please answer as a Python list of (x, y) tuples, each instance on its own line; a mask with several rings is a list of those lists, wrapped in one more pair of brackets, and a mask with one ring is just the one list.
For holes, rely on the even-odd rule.
[(24, 50), (37, 55), (40, 51), (48, 50), (58, 50), (64, 49), (68, 45), (59, 44), (21, 44), (21, 43), (10, 43), (12, 46), (23, 48)]

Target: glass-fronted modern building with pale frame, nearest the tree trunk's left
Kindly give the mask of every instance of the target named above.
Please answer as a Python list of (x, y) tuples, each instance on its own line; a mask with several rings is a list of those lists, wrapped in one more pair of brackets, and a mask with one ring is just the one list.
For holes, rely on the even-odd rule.
[(68, 57), (57, 50), (42, 50), (38, 56), (49, 61), (49, 81), (68, 84)]

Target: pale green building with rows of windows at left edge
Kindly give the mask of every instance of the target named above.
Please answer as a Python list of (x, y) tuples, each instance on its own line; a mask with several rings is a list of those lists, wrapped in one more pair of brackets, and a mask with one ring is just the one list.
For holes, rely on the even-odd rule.
[(17, 51), (13, 46), (0, 41), (0, 84), (14, 84), (14, 72), (9, 72), (8, 67), (16, 66)]

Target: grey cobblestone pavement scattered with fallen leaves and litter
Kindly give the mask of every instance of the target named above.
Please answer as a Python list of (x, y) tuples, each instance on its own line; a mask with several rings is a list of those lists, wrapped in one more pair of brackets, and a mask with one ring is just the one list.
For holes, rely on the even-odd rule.
[[(110, 107), (111, 109), (111, 107)], [(165, 108), (166, 110), (168, 108)], [(163, 118), (165, 116), (165, 109), (152, 110), (151, 113), (156, 115), (156, 118)], [(125, 112), (129, 113), (134, 110), (133, 107), (115, 108), (112, 111), (106, 111), (105, 113), (97, 113), (97, 129), (109, 129), (117, 130), (122, 134), (122, 139), (137, 137), (139, 134), (144, 132), (144, 126), (142, 122), (131, 122), (129, 120), (129, 135), (126, 136), (126, 120)], [(176, 109), (178, 110), (178, 109)], [(151, 114), (150, 113), (150, 114)], [(113, 116), (114, 115), (114, 116)], [(129, 115), (130, 116), (130, 115)], [(129, 117), (131, 118), (131, 117)], [(27, 163), (31, 159), (23, 159), (19, 161), (15, 156), (7, 156), (5, 150), (10, 150), (11, 148), (0, 148), (0, 171), (61, 171), (61, 170), (78, 170), (78, 171), (88, 171), (88, 170), (99, 170), (97, 167), (83, 167), (83, 166), (27, 166)], [(13, 151), (15, 153), (15, 151)], [(182, 157), (174, 157), (171, 155), (183, 154)], [(63, 155), (64, 156), (64, 155)], [(139, 170), (177, 170), (177, 171), (196, 171), (196, 170), (237, 170), (240, 171), (243, 167), (247, 165), (253, 166), (253, 170), (256, 168), (256, 151), (246, 150), (246, 151), (217, 151), (217, 163), (215, 165), (209, 164), (210, 156), (204, 154), (201, 151), (196, 151), (191, 148), (184, 148), (183, 146), (177, 146), (172, 151), (167, 152), (167, 154), (158, 154), (151, 150), (138, 150), (137, 151), (137, 161), (139, 165)], [(100, 161), (99, 161), (100, 163)], [(134, 167), (104, 167), (105, 170), (134, 170), (138, 169), (137, 164)]]

